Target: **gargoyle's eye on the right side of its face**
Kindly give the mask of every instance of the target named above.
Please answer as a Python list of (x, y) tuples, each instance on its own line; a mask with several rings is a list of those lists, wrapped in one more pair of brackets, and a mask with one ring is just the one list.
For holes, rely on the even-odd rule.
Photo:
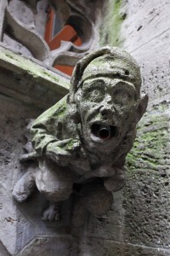
[(117, 104), (126, 105), (133, 101), (133, 95), (125, 90), (116, 90), (113, 96), (113, 101)]

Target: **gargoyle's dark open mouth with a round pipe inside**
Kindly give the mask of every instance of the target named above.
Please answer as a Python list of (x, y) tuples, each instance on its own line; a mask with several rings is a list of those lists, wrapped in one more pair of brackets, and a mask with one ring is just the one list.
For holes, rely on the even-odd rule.
[(91, 131), (95, 137), (99, 137), (102, 140), (117, 137), (119, 135), (118, 128), (114, 125), (93, 124), (91, 126)]

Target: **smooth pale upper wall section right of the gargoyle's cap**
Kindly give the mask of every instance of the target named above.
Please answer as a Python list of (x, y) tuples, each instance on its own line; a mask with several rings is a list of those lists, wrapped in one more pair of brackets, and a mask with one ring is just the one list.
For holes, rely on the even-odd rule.
[(139, 62), (150, 101), (170, 93), (168, 6), (168, 1), (133, 1), (122, 24), (123, 48)]

